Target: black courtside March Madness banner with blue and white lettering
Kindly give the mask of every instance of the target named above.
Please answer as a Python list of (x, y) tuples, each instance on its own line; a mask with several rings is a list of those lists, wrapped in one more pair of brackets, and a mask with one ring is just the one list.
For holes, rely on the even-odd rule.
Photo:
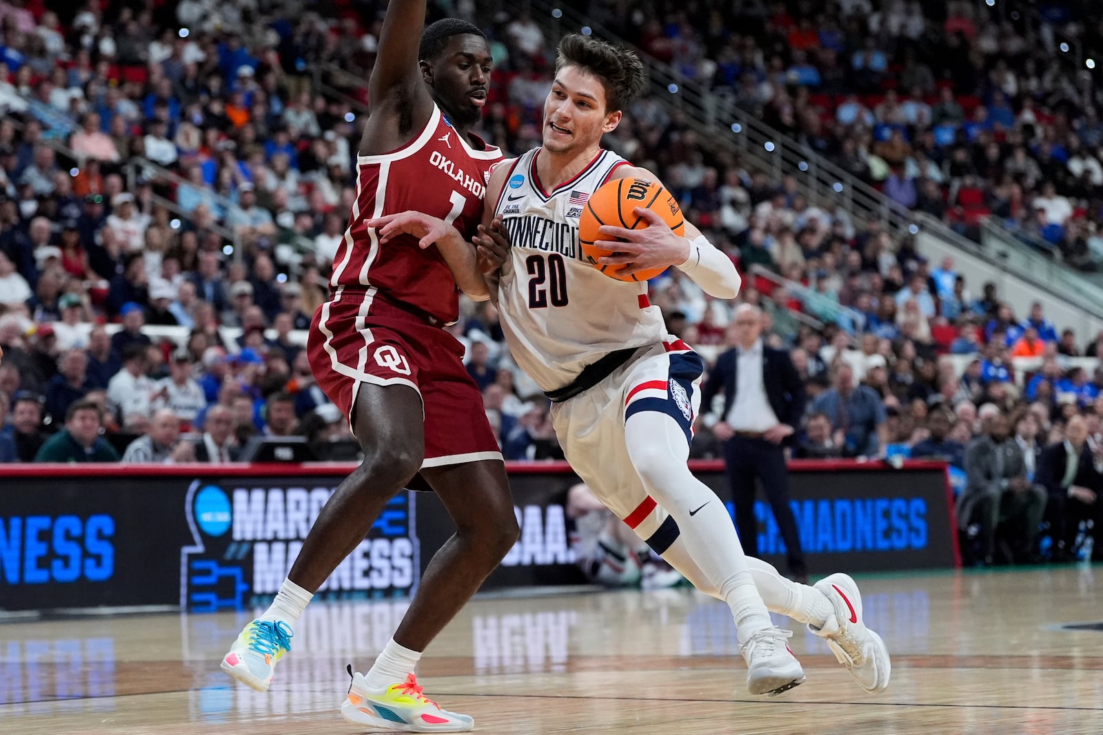
[[(0, 475), (0, 609), (266, 605), (351, 468), (8, 465)], [(694, 468), (730, 501), (721, 464)], [(792, 469), (793, 510), (812, 574), (959, 563), (943, 465), (794, 463)], [(583, 582), (564, 509), (577, 482), (569, 467), (512, 463), (510, 482), (521, 539), (484, 588)], [(772, 514), (761, 501), (756, 514), (762, 556), (784, 569)], [(453, 530), (431, 493), (401, 493), (318, 597), (406, 597)]]

